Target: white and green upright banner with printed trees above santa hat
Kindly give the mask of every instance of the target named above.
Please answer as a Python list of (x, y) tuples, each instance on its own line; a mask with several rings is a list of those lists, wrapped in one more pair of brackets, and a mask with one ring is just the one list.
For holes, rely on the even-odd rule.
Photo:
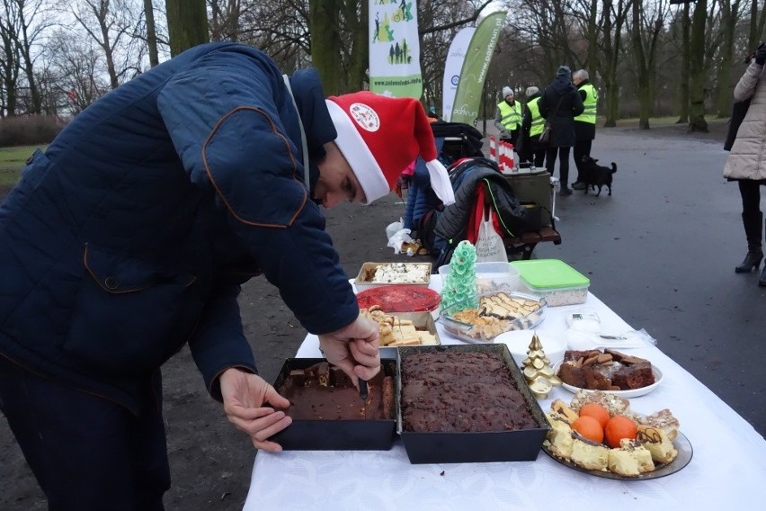
[(370, 91), (420, 99), (420, 40), (414, 0), (370, 0)]

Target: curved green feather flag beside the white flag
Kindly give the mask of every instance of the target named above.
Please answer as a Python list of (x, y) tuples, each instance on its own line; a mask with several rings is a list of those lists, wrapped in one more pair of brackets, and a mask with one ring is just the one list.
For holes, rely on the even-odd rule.
[(471, 42), (468, 45), (466, 59), (460, 71), (455, 102), (452, 103), (452, 122), (464, 122), (475, 125), (479, 103), (489, 64), (492, 61), (494, 47), (500, 39), (500, 31), (505, 24), (505, 11), (489, 14), (479, 22)]

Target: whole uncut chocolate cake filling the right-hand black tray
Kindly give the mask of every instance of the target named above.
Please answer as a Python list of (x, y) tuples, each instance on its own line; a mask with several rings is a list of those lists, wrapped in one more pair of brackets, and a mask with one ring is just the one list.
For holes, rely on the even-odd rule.
[(408, 354), (401, 365), (405, 431), (467, 433), (538, 427), (499, 354)]

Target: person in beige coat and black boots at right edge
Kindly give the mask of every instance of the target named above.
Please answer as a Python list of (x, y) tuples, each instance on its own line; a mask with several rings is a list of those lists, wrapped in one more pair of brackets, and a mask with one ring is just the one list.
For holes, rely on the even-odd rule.
[[(724, 166), (724, 177), (736, 181), (742, 198), (742, 222), (747, 255), (736, 273), (757, 270), (763, 259), (761, 186), (766, 185), (766, 42), (748, 58), (749, 65), (735, 86), (735, 101), (750, 100)], [(766, 265), (758, 285), (766, 286)]]

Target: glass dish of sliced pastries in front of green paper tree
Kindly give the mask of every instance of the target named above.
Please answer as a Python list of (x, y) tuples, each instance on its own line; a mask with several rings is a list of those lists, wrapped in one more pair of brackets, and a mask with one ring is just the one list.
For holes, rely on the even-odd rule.
[(513, 330), (537, 327), (545, 316), (546, 300), (520, 292), (496, 292), (479, 297), (477, 309), (441, 309), (444, 330), (468, 343), (491, 343)]

